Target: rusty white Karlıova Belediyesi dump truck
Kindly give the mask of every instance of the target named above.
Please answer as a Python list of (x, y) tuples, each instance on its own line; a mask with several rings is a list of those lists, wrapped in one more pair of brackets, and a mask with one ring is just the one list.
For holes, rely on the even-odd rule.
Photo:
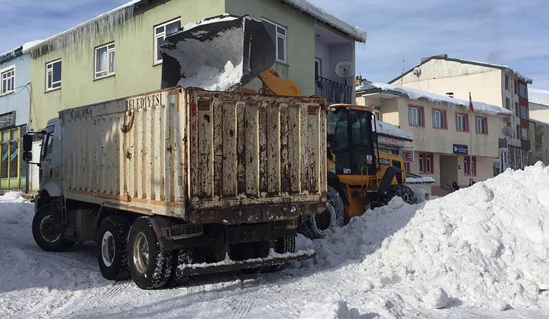
[(143, 289), (280, 270), (297, 218), (326, 209), (325, 100), (182, 87), (62, 110), (42, 132), (32, 233), (95, 241), (106, 279)]

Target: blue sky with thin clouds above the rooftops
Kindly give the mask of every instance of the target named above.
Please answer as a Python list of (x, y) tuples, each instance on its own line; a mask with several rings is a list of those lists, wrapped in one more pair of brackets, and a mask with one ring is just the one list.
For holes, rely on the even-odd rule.
[[(0, 0), (0, 52), (48, 38), (128, 0)], [(504, 64), (549, 89), (547, 0), (309, 0), (368, 32), (357, 73), (387, 82), (425, 56)], [(8, 32), (9, 30), (9, 32)]]

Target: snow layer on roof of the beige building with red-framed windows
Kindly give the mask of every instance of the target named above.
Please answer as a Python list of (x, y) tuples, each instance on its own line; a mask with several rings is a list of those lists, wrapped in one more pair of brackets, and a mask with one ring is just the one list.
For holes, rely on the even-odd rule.
[[(451, 104), (463, 108), (469, 108), (469, 101), (466, 101), (465, 99), (455, 99), (454, 97), (447, 97), (445, 95), (434, 94), (426, 91), (417, 90), (415, 88), (407, 88), (404, 86), (398, 86), (393, 84), (366, 82), (366, 84), (361, 84), (360, 86), (357, 86), (356, 91), (366, 91), (372, 88), (379, 88), (382, 91), (393, 91), (393, 93), (406, 95), (410, 99), (427, 99), (428, 101), (435, 102), (437, 104)], [(476, 113), (482, 113), (487, 115), (513, 115), (513, 112), (507, 110), (506, 108), (487, 104), (484, 102), (473, 102), (473, 108)]]

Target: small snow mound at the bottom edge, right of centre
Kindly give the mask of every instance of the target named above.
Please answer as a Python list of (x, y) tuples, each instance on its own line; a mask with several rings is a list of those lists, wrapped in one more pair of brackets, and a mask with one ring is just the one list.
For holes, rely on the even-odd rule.
[(360, 314), (357, 309), (349, 309), (341, 296), (329, 296), (305, 304), (299, 319), (360, 319)]

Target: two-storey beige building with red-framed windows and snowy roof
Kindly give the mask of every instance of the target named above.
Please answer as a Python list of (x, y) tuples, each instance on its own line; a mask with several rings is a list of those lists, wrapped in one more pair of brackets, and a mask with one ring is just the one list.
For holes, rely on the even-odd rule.
[(471, 112), (468, 100), (367, 81), (356, 94), (357, 103), (373, 107), (380, 120), (412, 134), (413, 141), (404, 143), (404, 166), (435, 180), (432, 195), (444, 195), (454, 181), (467, 187), (498, 174), (493, 163), (511, 110), (473, 102)]

